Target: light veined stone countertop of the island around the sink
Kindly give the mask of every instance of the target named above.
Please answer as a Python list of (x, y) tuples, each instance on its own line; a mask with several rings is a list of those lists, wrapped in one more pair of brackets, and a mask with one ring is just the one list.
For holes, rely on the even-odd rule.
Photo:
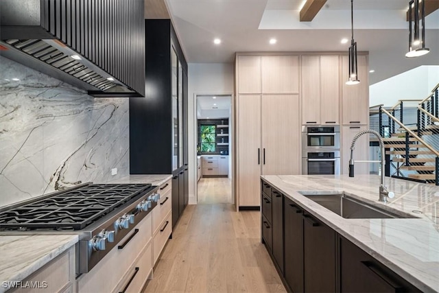
[[(261, 178), (423, 292), (439, 292), (438, 186), (386, 177), (385, 186), (394, 191), (395, 197), (383, 204), (378, 201), (377, 175)], [(345, 219), (298, 191), (343, 191), (382, 209), (396, 209), (420, 218)]]

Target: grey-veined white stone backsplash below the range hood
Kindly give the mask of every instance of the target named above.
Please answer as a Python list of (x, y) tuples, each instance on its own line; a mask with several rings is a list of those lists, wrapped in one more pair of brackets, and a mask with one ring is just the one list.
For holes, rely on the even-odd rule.
[(127, 98), (94, 98), (2, 56), (0, 64), (0, 207), (129, 174)]

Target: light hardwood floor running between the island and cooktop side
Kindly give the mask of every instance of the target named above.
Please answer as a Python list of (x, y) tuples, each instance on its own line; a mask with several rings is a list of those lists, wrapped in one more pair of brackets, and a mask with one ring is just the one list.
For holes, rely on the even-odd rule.
[[(226, 192), (209, 180), (215, 194)], [(203, 198), (183, 212), (143, 292), (285, 292), (261, 244), (260, 212), (237, 213), (233, 204)]]

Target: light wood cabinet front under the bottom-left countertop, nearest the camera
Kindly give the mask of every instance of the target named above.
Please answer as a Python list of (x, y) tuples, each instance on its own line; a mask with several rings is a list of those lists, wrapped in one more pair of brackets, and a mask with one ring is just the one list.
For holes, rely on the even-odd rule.
[[(25, 288), (27, 282), (31, 285), (38, 285), (39, 288), (34, 288), (33, 290), (29, 287)], [(45, 290), (50, 292), (70, 292), (69, 288), (73, 291), (73, 282), (75, 282), (74, 246), (22, 281), (23, 288), (12, 289), (8, 292), (43, 292)]]

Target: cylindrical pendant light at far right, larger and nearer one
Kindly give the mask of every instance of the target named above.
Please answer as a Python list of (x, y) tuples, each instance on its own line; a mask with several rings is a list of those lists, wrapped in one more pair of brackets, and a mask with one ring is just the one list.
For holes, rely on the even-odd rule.
[[(420, 5), (420, 7), (419, 7)], [(419, 13), (421, 36), (419, 38)], [(412, 34), (413, 19), (413, 34)], [(413, 36), (413, 38), (412, 38)], [(425, 1), (411, 0), (409, 2), (409, 51), (405, 57), (418, 57), (429, 53), (430, 49), (425, 47)]]

